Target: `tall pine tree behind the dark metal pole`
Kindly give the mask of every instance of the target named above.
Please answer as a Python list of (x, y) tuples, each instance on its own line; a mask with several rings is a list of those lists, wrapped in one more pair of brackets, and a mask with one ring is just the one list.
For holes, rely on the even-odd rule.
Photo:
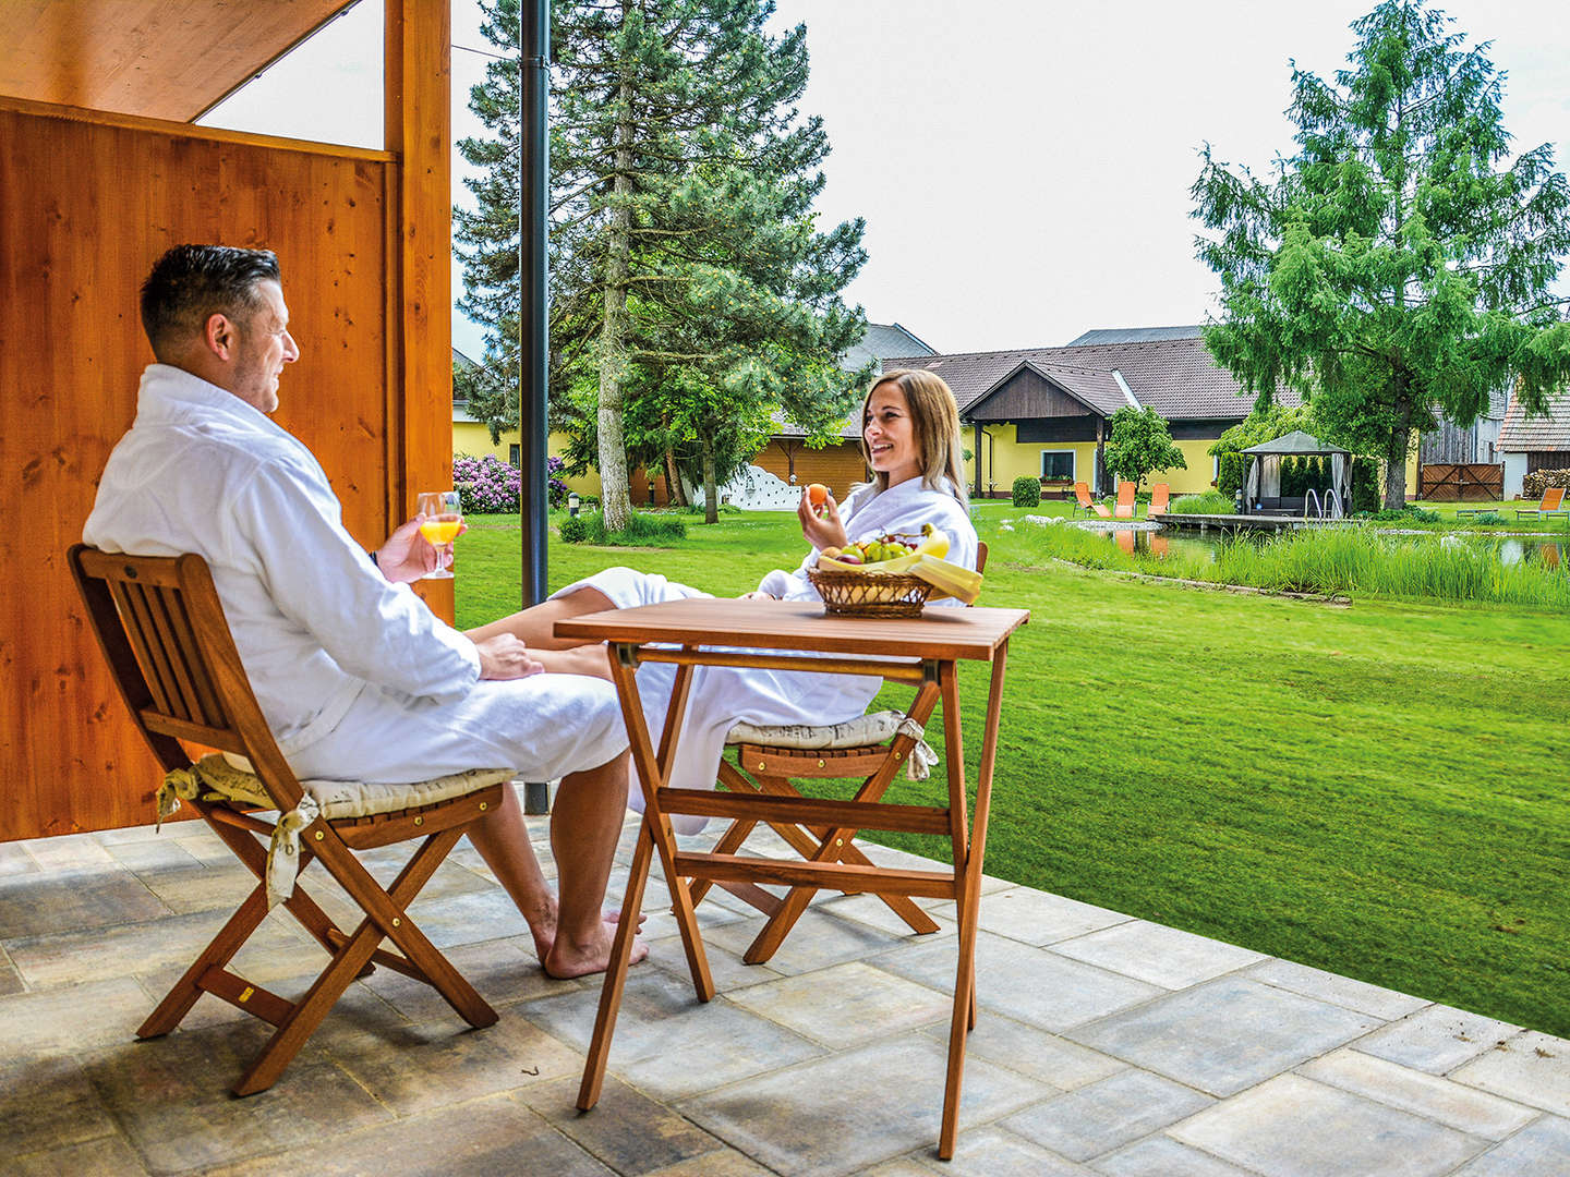
[[(482, 6), (485, 35), (515, 53), (517, 0)], [(766, 0), (553, 9), (553, 422), (575, 436), (575, 465), (598, 468), (611, 530), (630, 510), (630, 455), (670, 469), (696, 450), (713, 469), (705, 482), (724, 480), (774, 410), (824, 441), (854, 403), (860, 374), (835, 358), (865, 331), (840, 300), (865, 261), (864, 226), (813, 226), (829, 144), (794, 105), (805, 28), (771, 38), (771, 11)], [(487, 168), (471, 184), (480, 210), (458, 223), (462, 306), (495, 325), (502, 352), (517, 319), (517, 75), (513, 61), (493, 63), (473, 105), (496, 138), (460, 144)]]

